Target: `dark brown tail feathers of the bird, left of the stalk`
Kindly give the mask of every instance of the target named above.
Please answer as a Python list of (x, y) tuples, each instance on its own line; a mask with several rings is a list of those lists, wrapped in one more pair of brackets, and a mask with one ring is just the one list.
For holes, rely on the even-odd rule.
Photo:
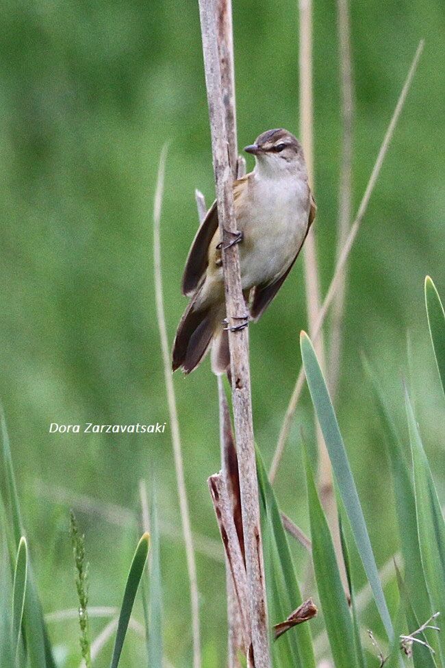
[(219, 304), (200, 306), (197, 297), (198, 294), (190, 301), (178, 325), (173, 343), (173, 371), (182, 369), (190, 373), (196, 369), (214, 336), (218, 341), (219, 332), (223, 330), (224, 310)]

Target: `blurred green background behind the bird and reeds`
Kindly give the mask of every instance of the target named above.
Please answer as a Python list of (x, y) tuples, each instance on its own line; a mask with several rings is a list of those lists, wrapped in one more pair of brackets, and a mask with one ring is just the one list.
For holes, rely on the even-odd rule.
[[(191, 634), (170, 433), (49, 434), (51, 422), (168, 421), (155, 319), (151, 208), (170, 142), (162, 253), (170, 341), (185, 306), (179, 284), (196, 230), (194, 188), (214, 197), (196, 2), (5, 2), (0, 41), (0, 395), (31, 558), (45, 612), (76, 608), (68, 507), (86, 534), (90, 604), (118, 605), (138, 537), (138, 482), (155, 481), (164, 536), (166, 656), (190, 665)], [(240, 147), (270, 127), (298, 134), (298, 11), (290, 0), (234, 1)], [(423, 280), (445, 294), (445, 49), (440, 0), (351, 7), (355, 82), (354, 210), (420, 38), (424, 54), (351, 254), (338, 415), (377, 562), (396, 549), (381, 431), (364, 352), (396, 415), (414, 395), (443, 493), (443, 396)], [(333, 272), (340, 158), (335, 2), (314, 5), (316, 239), (322, 288)], [(250, 158), (249, 158), (249, 166)], [(251, 327), (255, 433), (270, 462), (307, 327), (303, 263)], [(408, 351), (408, 354), (407, 354)], [(175, 376), (197, 553), (203, 652), (225, 665), (225, 575), (208, 475), (219, 468), (216, 384), (208, 362)], [(307, 391), (277, 476), (283, 510), (307, 530), (299, 430), (313, 437)], [(440, 479), (442, 476), (442, 480)], [(442, 499), (443, 500), (443, 499)], [(94, 502), (93, 502), (94, 501)], [(134, 519), (132, 519), (134, 517)], [(212, 542), (213, 541), (213, 542)], [(296, 549), (301, 573), (303, 552)], [(139, 617), (138, 617), (139, 615)], [(142, 619), (140, 610), (136, 616)], [(93, 620), (94, 635), (105, 620)], [(66, 667), (77, 623), (51, 623)], [(142, 665), (133, 635), (123, 665)], [(97, 660), (107, 665), (110, 647)]]

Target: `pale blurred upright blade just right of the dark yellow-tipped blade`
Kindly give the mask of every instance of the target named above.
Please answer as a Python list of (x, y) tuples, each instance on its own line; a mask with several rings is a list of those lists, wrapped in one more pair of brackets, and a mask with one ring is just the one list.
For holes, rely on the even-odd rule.
[(150, 513), (150, 591), (149, 591), (149, 666), (162, 668), (162, 582), (160, 561), (160, 532), (157, 520), (155, 489), (151, 498)]

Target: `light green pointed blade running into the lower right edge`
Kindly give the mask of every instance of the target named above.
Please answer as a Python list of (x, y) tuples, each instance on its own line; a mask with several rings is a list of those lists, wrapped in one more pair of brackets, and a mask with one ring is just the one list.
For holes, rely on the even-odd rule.
[[(439, 611), (443, 615), (445, 610), (444, 518), (407, 392), (405, 392), (405, 403), (413, 459), (418, 537), (425, 582), (434, 608), (433, 613)], [(445, 657), (445, 634), (443, 633), (440, 634), (440, 653), (443, 663)]]

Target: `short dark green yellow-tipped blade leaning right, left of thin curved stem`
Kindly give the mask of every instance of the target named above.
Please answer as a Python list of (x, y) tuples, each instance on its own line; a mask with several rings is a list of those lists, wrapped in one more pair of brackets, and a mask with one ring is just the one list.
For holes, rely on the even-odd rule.
[(144, 572), (145, 562), (147, 561), (147, 554), (149, 553), (149, 534), (145, 533), (136, 547), (136, 552), (131, 562), (128, 573), (127, 584), (125, 585), (125, 592), (122, 606), (119, 613), (118, 628), (116, 631), (116, 640), (114, 641), (113, 657), (111, 668), (117, 668), (122, 653), (125, 635), (131, 617), (131, 610), (133, 609), (134, 599), (138, 593), (138, 586), (142, 573)]

